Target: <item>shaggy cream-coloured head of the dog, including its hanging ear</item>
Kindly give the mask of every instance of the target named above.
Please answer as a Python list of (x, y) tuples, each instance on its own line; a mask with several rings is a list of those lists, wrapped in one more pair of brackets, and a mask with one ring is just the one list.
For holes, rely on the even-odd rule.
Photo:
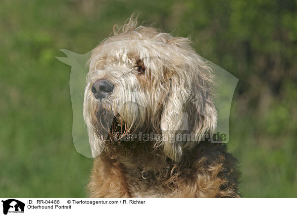
[[(110, 132), (159, 133), (156, 148), (180, 161), (196, 141), (176, 141), (181, 131), (199, 140), (216, 126), (210, 68), (186, 38), (174, 38), (130, 20), (92, 52), (84, 99), (93, 156)], [(183, 132), (182, 132), (183, 133)]]

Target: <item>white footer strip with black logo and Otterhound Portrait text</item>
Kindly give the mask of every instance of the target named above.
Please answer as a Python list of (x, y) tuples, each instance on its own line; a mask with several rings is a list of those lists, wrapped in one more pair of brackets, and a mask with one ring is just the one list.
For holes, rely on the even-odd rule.
[(297, 215), (297, 199), (23, 199), (0, 198), (0, 216)]

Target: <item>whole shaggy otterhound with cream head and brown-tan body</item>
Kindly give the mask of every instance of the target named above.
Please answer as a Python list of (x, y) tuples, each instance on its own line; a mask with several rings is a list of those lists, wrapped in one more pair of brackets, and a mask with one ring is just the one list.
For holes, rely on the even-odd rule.
[(90, 197), (239, 197), (236, 160), (203, 141), (217, 121), (210, 67), (188, 38), (136, 20), (115, 27), (89, 60)]

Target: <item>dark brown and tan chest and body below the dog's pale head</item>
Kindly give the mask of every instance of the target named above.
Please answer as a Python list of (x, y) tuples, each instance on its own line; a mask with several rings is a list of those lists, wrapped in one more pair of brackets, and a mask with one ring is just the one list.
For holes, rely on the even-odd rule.
[(238, 176), (224, 144), (199, 143), (176, 163), (149, 142), (109, 142), (88, 190), (92, 198), (238, 198)]

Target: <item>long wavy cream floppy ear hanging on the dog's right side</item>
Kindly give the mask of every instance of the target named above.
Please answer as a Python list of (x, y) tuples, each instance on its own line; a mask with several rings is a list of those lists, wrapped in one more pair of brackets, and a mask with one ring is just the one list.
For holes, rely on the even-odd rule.
[(191, 65), (176, 67), (161, 115), (165, 155), (179, 162), (206, 133), (214, 131), (217, 112), (212, 101), (211, 69), (196, 54)]

